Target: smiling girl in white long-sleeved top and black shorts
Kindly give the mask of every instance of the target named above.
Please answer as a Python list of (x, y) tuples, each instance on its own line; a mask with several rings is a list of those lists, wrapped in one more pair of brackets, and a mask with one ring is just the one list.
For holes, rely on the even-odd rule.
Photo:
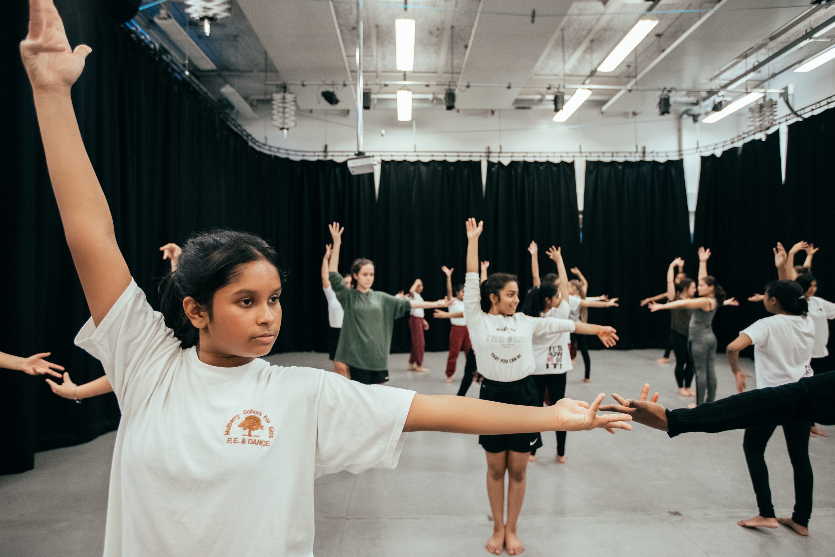
[[(533, 340), (535, 335), (554, 335), (559, 332), (590, 332), (598, 329), (584, 323), (565, 319), (542, 319), (517, 313), (519, 283), (516, 277), (493, 273), (484, 284), (489, 296), (489, 311), (482, 307), (482, 291), (478, 285), (478, 236), (483, 222), (467, 221), (467, 275), (464, 282), (464, 318), (470, 342), (482, 375), (479, 398), (486, 401), (509, 403), (516, 408), (539, 407), (536, 383), (530, 374), (536, 368)], [(617, 340), (615, 330), (608, 328), (600, 334), (607, 346)], [(561, 404), (558, 403), (558, 404)], [(525, 491), (525, 472), (531, 449), (542, 446), (539, 433), (481, 435), (478, 443), (487, 456), (487, 494), (493, 512), (493, 535), (485, 545), (493, 554), (504, 548), (511, 555), (522, 553), (524, 545), (516, 535), (516, 524), (522, 509)], [(509, 476), (508, 514), (504, 521), (504, 476)]]

